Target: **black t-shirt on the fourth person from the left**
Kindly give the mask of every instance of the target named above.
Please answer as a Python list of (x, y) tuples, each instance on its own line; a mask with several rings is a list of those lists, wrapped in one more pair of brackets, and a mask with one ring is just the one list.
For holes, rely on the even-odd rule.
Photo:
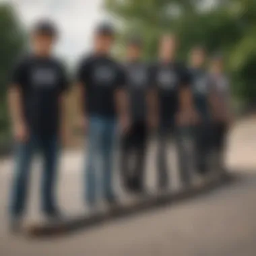
[(160, 121), (173, 121), (179, 110), (179, 92), (191, 83), (189, 71), (178, 63), (157, 63), (150, 73), (158, 91)]

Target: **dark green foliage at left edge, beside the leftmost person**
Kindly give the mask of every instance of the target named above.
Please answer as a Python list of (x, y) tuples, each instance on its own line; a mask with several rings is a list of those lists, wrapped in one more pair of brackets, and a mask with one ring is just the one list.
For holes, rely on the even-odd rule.
[(0, 5), (0, 137), (8, 132), (6, 92), (11, 67), (24, 46), (24, 32), (9, 5)]

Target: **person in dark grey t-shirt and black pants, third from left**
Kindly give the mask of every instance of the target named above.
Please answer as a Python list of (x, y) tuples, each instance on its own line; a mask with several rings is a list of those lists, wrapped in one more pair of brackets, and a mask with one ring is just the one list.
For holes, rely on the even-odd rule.
[[(128, 191), (144, 191), (146, 144), (148, 139), (148, 94), (150, 91), (150, 69), (141, 60), (143, 42), (139, 36), (131, 36), (127, 45), (127, 92), (131, 125), (121, 139), (121, 174)], [(134, 160), (131, 164), (131, 160)]]

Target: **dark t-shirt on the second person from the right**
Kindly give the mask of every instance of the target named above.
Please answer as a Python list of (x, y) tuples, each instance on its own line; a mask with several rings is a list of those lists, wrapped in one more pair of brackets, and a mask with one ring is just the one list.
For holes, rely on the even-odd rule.
[(194, 103), (201, 115), (208, 116), (209, 111), (209, 82), (208, 74), (204, 69), (190, 69)]

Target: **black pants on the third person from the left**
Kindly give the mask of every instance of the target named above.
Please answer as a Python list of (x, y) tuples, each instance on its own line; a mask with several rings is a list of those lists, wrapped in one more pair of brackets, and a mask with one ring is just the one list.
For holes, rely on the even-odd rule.
[(121, 175), (129, 190), (143, 189), (147, 138), (146, 121), (135, 121), (121, 139)]

